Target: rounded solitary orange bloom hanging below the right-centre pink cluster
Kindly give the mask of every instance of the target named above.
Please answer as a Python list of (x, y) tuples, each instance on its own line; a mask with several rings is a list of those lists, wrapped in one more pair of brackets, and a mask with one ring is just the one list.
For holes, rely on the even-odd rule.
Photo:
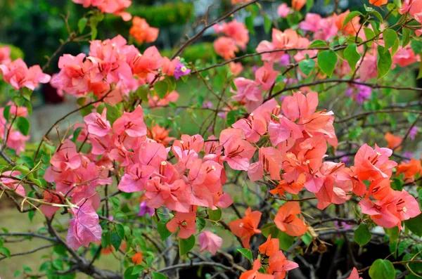
[(296, 214), (300, 214), (299, 202), (286, 202), (279, 208), (274, 223), (288, 235), (300, 236), (307, 232), (307, 226)]

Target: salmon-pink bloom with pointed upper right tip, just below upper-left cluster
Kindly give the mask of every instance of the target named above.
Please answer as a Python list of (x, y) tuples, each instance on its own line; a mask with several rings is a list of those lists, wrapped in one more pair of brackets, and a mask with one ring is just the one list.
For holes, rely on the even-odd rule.
[(113, 123), (113, 131), (116, 134), (125, 132), (128, 136), (145, 136), (146, 124), (143, 122), (143, 110), (141, 105), (138, 105), (133, 112), (124, 112)]

